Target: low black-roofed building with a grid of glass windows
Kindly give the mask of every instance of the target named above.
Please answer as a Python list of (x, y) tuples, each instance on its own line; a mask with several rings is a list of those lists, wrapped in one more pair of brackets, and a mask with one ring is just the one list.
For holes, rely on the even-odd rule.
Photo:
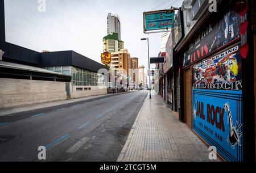
[(41, 54), (42, 66), (47, 70), (72, 75), (72, 90), (98, 90), (106, 86), (104, 74), (98, 70), (106, 66), (79, 53), (69, 51), (44, 52)]

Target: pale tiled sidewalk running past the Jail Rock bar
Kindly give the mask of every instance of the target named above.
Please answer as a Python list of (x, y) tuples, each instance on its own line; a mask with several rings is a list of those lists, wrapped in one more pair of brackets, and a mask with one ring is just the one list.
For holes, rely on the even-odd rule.
[(196, 134), (153, 95), (146, 98), (117, 161), (209, 162), (209, 153)]

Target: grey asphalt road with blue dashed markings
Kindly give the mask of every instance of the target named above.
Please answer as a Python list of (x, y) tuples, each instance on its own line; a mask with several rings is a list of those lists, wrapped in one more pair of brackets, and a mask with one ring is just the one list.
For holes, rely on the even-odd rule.
[[(0, 118), (0, 162), (116, 161), (147, 91), (105, 96)], [(2, 123), (6, 122), (6, 123)]]

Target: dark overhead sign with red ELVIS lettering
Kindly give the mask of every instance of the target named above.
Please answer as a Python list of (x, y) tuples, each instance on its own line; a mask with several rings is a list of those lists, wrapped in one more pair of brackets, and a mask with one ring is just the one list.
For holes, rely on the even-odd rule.
[(240, 37), (239, 19), (240, 16), (236, 12), (228, 10), (216, 24), (209, 24), (184, 53), (183, 67), (207, 57), (214, 50), (238, 39)]

